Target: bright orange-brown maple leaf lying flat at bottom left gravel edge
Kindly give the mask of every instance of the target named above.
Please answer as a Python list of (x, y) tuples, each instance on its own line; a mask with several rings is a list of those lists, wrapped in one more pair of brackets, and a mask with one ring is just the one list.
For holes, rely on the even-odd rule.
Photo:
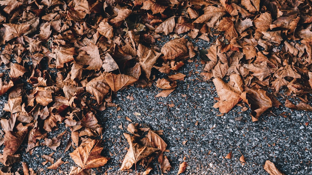
[(79, 146), (70, 153), (74, 162), (83, 169), (98, 168), (104, 166), (109, 158), (101, 155), (103, 147), (100, 140), (92, 140), (84, 147)]

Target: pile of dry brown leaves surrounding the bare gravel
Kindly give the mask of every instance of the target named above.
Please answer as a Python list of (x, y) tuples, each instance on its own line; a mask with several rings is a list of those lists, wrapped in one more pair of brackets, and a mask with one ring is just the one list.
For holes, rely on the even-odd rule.
[[(275, 96), (283, 88), (287, 97), (300, 100), (286, 100), (286, 107), (312, 110), (307, 104), (312, 86), (309, 1), (2, 0), (0, 5), (0, 63), (9, 70), (1, 74), (0, 95), (8, 94), (4, 110), (11, 113), (1, 119), (4, 173), (21, 161), (23, 140), (30, 154), (39, 140), (56, 150), (67, 132), (52, 139), (47, 132), (60, 122), (70, 129), (66, 150), (75, 149), (70, 155), (78, 167), (71, 174), (103, 166), (108, 158), (100, 155), (101, 141), (95, 139), (103, 129), (95, 114), (116, 107), (112, 94), (128, 85), (145, 88), (156, 82), (163, 89), (157, 96), (168, 96), (185, 77), (176, 71), (197, 54), (185, 36), (212, 43), (199, 50), (201, 75), (213, 78), (219, 95), (214, 107), (221, 113), (243, 101), (257, 121), (281, 105)], [(175, 39), (158, 48), (156, 40), (163, 35)], [(156, 81), (156, 71), (170, 76)], [(124, 136), (129, 151), (149, 147), (158, 160), (168, 160), (147, 139), (136, 146), (136, 138)], [(139, 159), (127, 161), (131, 156), (126, 155), (122, 170)]]

